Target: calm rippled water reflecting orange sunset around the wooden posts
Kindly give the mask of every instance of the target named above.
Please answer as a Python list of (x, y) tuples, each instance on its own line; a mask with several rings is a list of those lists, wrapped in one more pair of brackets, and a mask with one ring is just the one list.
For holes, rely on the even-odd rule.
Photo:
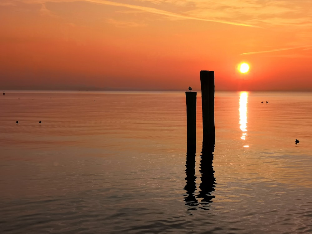
[(312, 93), (216, 92), (212, 163), (200, 93), (195, 155), (184, 92), (1, 96), (0, 233), (312, 233)]

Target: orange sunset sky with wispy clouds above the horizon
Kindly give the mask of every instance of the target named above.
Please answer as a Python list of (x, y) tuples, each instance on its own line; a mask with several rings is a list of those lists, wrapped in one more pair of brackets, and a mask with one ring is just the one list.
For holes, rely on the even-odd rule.
[[(310, 0), (1, 0), (0, 87), (312, 91)], [(246, 62), (250, 71), (237, 66)]]

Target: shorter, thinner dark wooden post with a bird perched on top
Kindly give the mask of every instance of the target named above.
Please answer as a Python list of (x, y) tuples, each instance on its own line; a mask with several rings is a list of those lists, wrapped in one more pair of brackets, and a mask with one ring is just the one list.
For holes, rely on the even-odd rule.
[(196, 150), (196, 92), (185, 92), (188, 152)]

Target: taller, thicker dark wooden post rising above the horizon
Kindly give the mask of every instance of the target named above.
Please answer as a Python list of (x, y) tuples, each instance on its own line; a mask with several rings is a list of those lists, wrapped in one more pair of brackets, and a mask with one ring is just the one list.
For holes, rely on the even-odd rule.
[(202, 89), (202, 137), (203, 141), (214, 144), (216, 139), (214, 125), (214, 71), (200, 71)]

